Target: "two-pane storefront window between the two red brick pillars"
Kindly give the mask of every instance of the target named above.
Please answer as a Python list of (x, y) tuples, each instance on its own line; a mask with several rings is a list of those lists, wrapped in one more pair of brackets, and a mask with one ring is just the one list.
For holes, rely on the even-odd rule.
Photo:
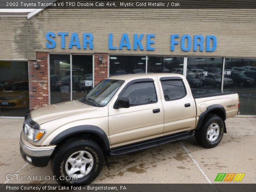
[[(92, 89), (92, 55), (50, 54), (51, 104), (80, 99)], [(72, 86), (71, 86), (72, 68)]]

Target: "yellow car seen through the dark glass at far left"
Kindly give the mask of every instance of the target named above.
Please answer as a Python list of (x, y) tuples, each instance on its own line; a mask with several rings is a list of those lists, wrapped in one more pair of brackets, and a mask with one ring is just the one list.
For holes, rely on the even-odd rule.
[(24, 108), (29, 105), (28, 81), (15, 82), (0, 91), (1, 108)]

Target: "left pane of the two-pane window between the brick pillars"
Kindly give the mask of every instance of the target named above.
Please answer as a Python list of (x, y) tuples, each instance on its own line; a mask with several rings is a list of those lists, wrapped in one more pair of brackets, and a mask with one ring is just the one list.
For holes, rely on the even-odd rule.
[(50, 54), (51, 104), (70, 100), (70, 55)]

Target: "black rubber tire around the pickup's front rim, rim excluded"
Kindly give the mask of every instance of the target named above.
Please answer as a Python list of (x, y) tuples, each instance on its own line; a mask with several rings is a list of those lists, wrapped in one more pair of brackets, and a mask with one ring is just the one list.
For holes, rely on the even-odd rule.
[[(89, 152), (94, 160), (92, 165), (92, 169), (90, 172), (77, 180), (63, 180), (68, 176), (65, 170), (65, 164), (70, 155), (72, 155), (76, 151), (84, 150)], [(104, 162), (104, 156), (101, 148), (98, 146), (96, 142), (90, 139), (79, 139), (74, 138), (71, 140), (67, 140), (61, 146), (58, 146), (54, 156), (52, 158), (52, 172), (54, 176), (56, 176), (56, 180), (60, 184), (89, 184), (92, 182), (100, 173), (102, 169), (102, 164)], [(69, 179), (69, 177), (68, 177)]]

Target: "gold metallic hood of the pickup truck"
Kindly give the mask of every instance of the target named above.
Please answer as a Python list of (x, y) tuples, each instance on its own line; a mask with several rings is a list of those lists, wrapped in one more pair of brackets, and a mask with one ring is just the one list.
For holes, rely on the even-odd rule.
[(98, 108), (80, 102), (79, 100), (73, 100), (32, 110), (30, 116), (32, 120), (40, 125), (55, 119), (94, 111)]

